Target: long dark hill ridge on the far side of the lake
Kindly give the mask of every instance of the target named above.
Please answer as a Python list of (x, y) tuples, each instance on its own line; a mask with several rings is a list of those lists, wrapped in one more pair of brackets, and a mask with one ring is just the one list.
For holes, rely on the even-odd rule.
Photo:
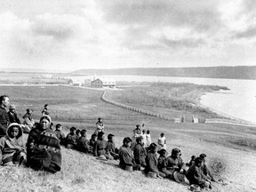
[(256, 79), (256, 66), (201, 67), (201, 68), (113, 68), (80, 69), (80, 75), (133, 75), (133, 76), (177, 76), (228, 79)]

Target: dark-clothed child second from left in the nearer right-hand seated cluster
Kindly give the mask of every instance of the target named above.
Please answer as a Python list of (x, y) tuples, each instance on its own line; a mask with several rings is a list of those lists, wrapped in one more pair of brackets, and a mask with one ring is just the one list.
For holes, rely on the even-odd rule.
[(142, 167), (146, 166), (145, 158), (147, 156), (147, 151), (143, 147), (144, 143), (142, 140), (143, 140), (143, 138), (141, 136), (136, 138), (137, 144), (133, 150), (135, 164), (137, 165), (137, 169), (139, 171), (140, 171), (140, 166), (142, 166)]

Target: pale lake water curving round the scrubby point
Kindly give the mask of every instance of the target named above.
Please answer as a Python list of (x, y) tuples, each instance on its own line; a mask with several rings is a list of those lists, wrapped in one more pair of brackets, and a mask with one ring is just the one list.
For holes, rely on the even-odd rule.
[[(71, 77), (71, 76), (70, 76)], [(108, 76), (116, 81), (169, 82), (227, 86), (229, 91), (206, 93), (201, 103), (220, 113), (256, 123), (256, 80), (170, 76)], [(72, 77), (74, 78), (74, 76)], [(76, 76), (77, 80), (92, 76)]]

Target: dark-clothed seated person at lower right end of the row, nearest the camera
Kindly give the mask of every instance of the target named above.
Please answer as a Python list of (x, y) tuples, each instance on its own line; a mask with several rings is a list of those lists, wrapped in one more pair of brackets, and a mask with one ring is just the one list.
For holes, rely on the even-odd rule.
[(204, 174), (201, 169), (202, 162), (202, 158), (196, 157), (195, 164), (189, 167), (186, 177), (190, 185), (196, 184), (200, 186), (200, 188), (212, 188), (211, 182), (204, 179)]

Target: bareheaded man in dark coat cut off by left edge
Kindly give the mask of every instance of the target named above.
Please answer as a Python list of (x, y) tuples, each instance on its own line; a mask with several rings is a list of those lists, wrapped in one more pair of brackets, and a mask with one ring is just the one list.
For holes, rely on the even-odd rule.
[(0, 96), (0, 138), (6, 135), (7, 126), (10, 124), (9, 116), (5, 110), (9, 105), (9, 97), (7, 95)]

